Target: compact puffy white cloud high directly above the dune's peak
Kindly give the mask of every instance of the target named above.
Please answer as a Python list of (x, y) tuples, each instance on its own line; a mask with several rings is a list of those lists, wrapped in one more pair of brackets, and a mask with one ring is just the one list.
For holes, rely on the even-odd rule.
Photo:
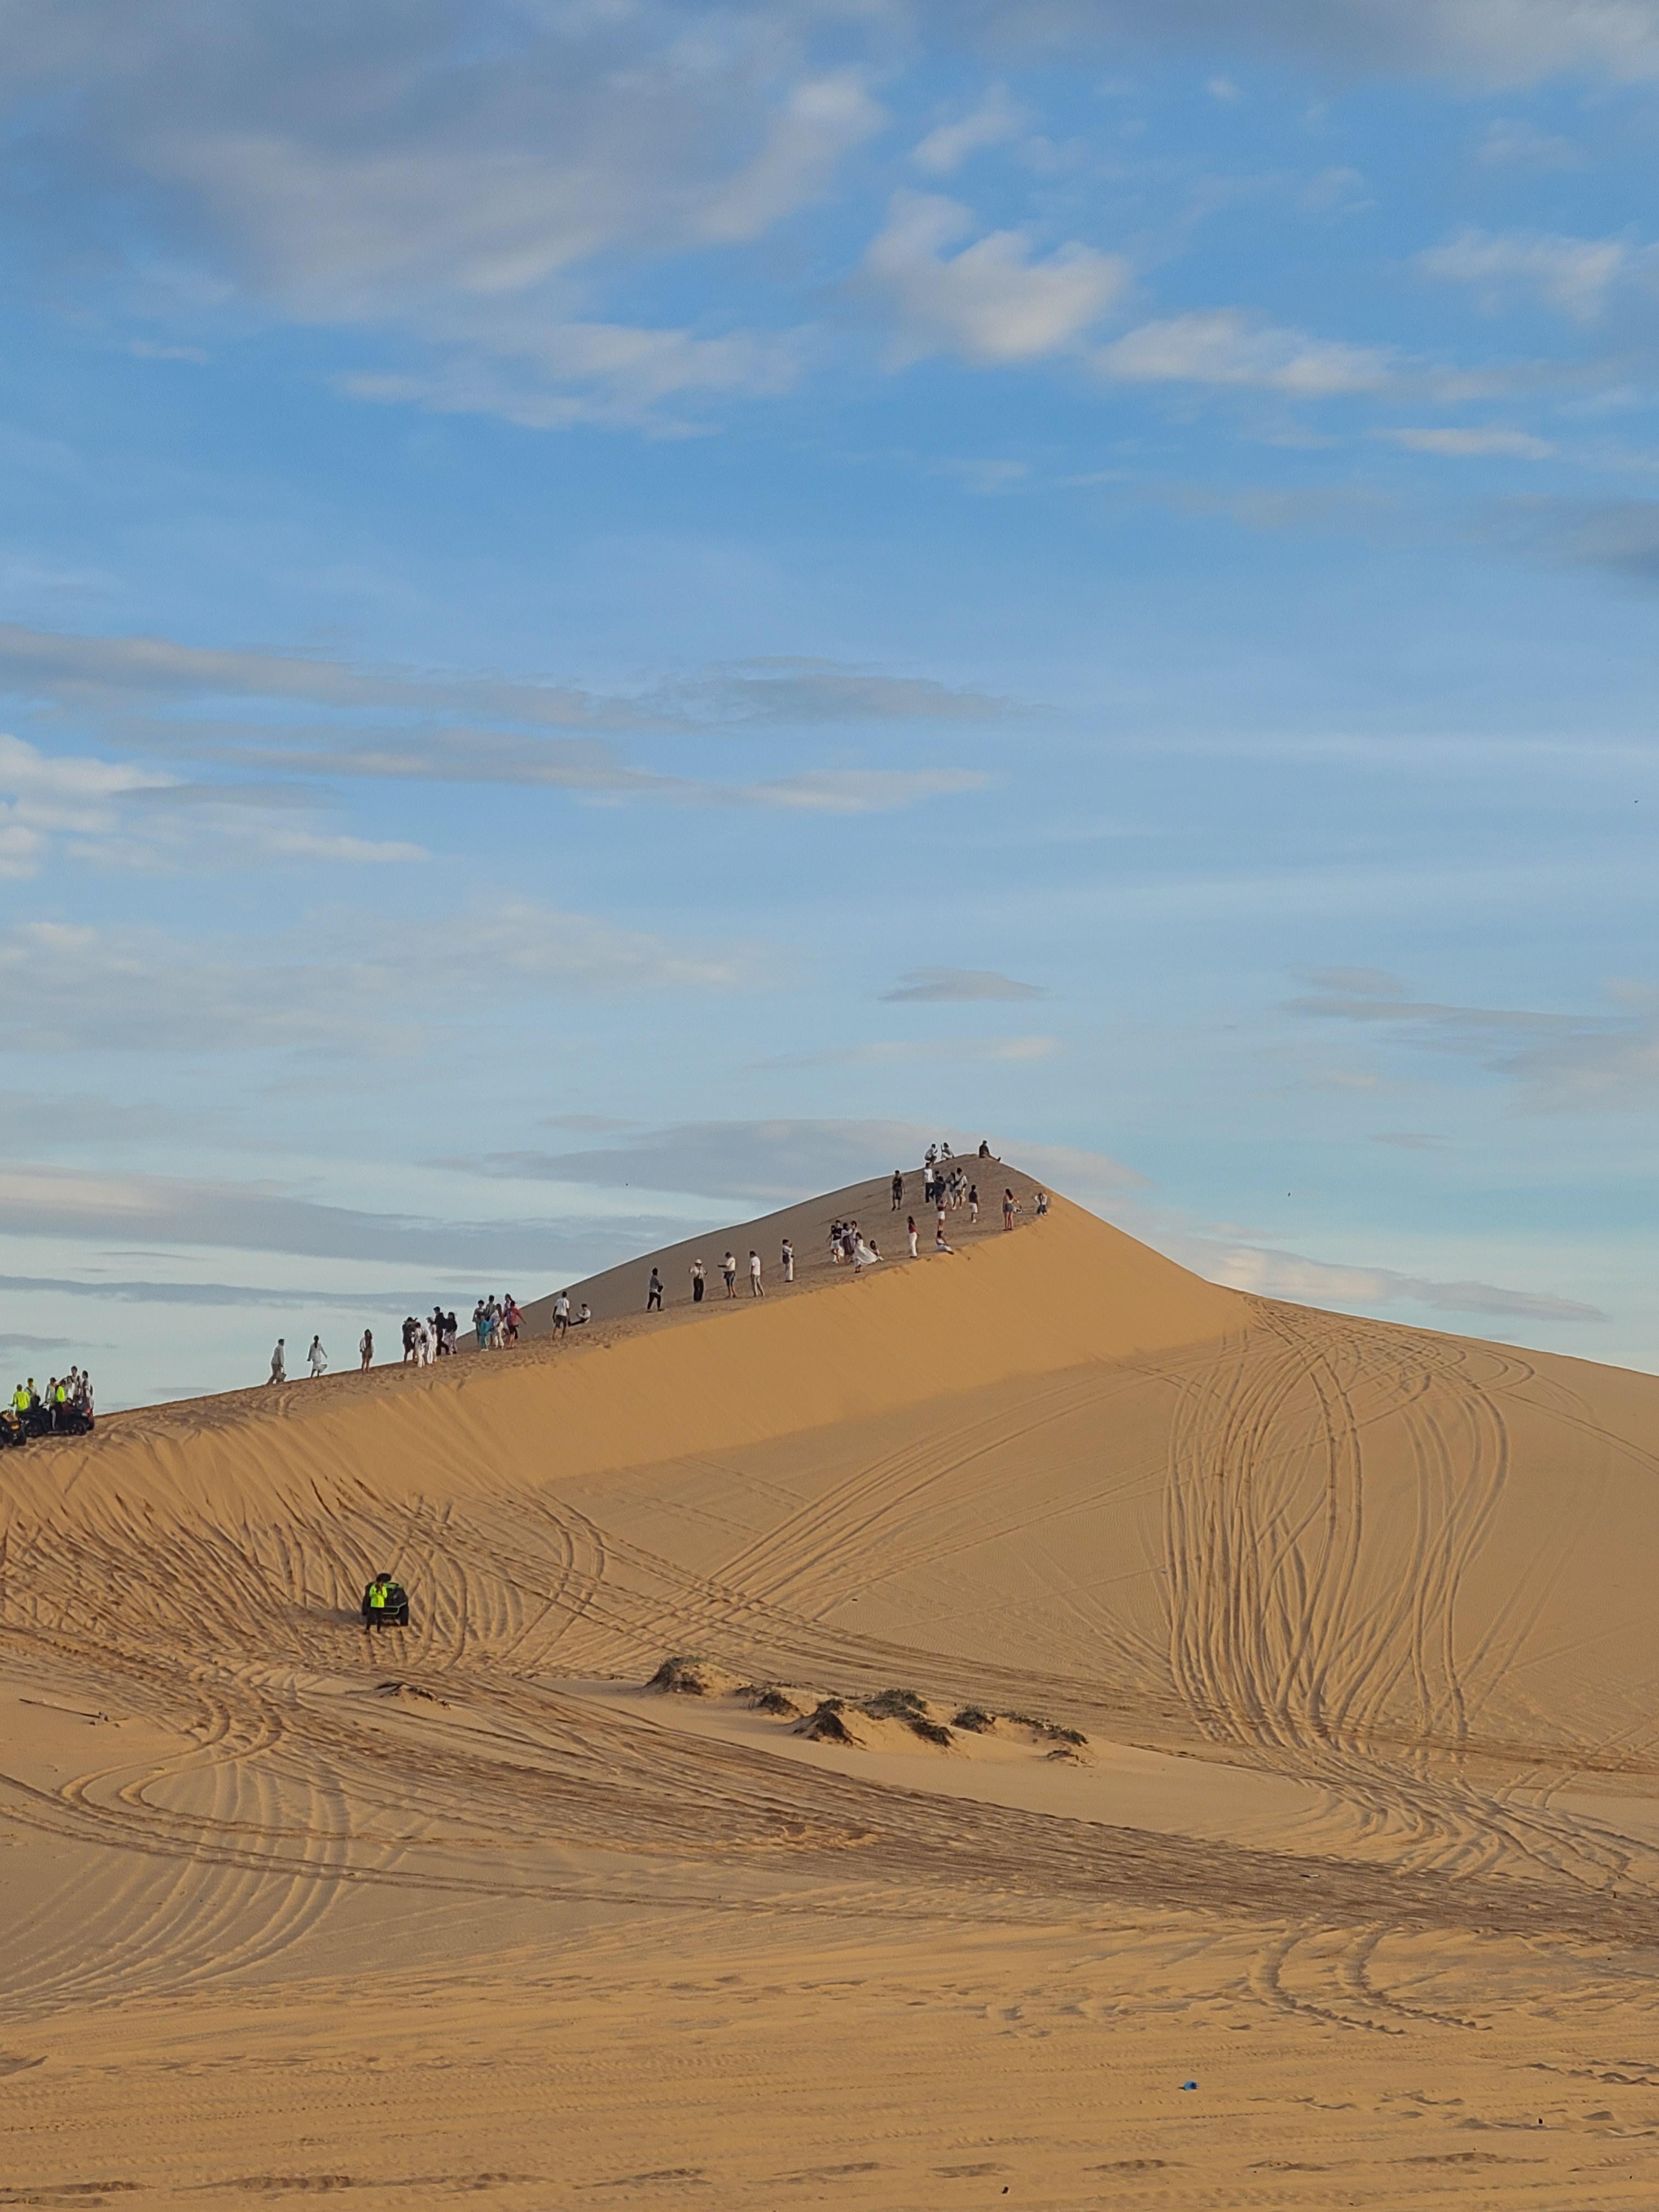
[(1119, 254), (1057, 246), (1040, 254), (1024, 230), (973, 230), (971, 212), (931, 192), (898, 192), (860, 281), (896, 325), (896, 358), (949, 352), (1000, 365), (1075, 345), (1128, 281)]

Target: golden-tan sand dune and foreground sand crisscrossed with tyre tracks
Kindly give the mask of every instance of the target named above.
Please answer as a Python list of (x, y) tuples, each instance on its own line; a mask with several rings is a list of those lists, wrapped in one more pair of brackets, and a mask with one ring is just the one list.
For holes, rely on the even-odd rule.
[(1659, 2201), (1659, 1380), (971, 1166), (7, 1458), (0, 2203)]

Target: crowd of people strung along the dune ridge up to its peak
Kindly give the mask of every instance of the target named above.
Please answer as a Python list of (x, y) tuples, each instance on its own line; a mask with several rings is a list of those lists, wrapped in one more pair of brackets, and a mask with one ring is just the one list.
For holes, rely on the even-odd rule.
[[(993, 1203), (991, 1192), (980, 1194), (975, 1175), (984, 1172), (984, 1164), (993, 1161), (989, 1141), (980, 1141), (978, 1155), (958, 1159), (949, 1144), (929, 1144), (920, 1168), (920, 1208), (922, 1214), (933, 1214), (933, 1252), (953, 1252), (947, 1225), (953, 1214), (967, 1212), (969, 1228), (980, 1221), (980, 1206)], [(894, 1168), (889, 1197), (889, 1212), (905, 1214), (905, 1252), (909, 1259), (920, 1259), (922, 1254), (922, 1230), (918, 1228), (916, 1214), (905, 1212), (905, 1197), (909, 1190), (909, 1177), (902, 1168)], [(1015, 1199), (1011, 1188), (1002, 1190), (1002, 1228), (1011, 1230), (1020, 1212), (1024, 1210)], [(1048, 1194), (1044, 1190), (1035, 1192), (1035, 1212), (1048, 1212)], [(852, 1274), (865, 1274), (878, 1267), (885, 1259), (880, 1243), (876, 1241), (874, 1228), (863, 1228), (854, 1219), (832, 1219), (827, 1230), (827, 1256), (834, 1267), (849, 1267)], [(719, 1261), (719, 1279), (726, 1298), (765, 1298), (768, 1294), (768, 1263), (759, 1248), (750, 1248), (745, 1256), (739, 1259), (737, 1252), (723, 1252)], [(772, 1267), (774, 1283), (794, 1283), (796, 1279), (796, 1250), (790, 1237), (779, 1243), (779, 1256)], [(701, 1259), (692, 1259), (688, 1270), (688, 1292), (690, 1303), (701, 1305), (708, 1296), (710, 1267)], [(650, 1265), (644, 1290), (644, 1305), (648, 1314), (664, 1312), (670, 1301), (670, 1287), (664, 1281), (661, 1267)], [(573, 1305), (571, 1292), (560, 1290), (553, 1298), (551, 1310), (551, 1334), (568, 1336), (571, 1329), (586, 1327), (593, 1321), (593, 1307), (582, 1301), (580, 1307)], [(473, 1340), (480, 1352), (504, 1352), (518, 1345), (520, 1327), (524, 1323), (522, 1307), (511, 1296), (502, 1298), (484, 1296), (478, 1298), (471, 1314)], [(442, 1305), (434, 1305), (431, 1314), (407, 1314), (403, 1321), (403, 1365), (405, 1367), (431, 1367), (436, 1360), (453, 1358), (460, 1343), (460, 1323), (453, 1312), (445, 1312)], [(367, 1374), (374, 1365), (374, 1329), (363, 1329), (358, 1340), (358, 1371)], [(327, 1374), (330, 1358), (321, 1334), (312, 1336), (310, 1349), (305, 1354), (305, 1374), (316, 1380)], [(270, 1356), (268, 1383), (288, 1383), (288, 1338), (279, 1336)]]

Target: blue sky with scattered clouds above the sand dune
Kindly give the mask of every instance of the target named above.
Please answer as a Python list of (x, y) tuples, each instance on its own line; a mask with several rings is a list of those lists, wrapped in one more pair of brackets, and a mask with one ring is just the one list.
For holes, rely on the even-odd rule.
[(931, 1137), (1659, 1369), (1659, 0), (0, 0), (0, 100), (11, 1369)]

